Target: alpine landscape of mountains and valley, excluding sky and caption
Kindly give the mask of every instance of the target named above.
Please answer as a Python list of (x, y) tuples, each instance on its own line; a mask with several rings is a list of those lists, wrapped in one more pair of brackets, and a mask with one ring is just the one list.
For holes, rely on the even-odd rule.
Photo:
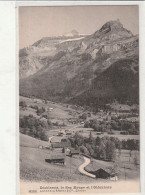
[(43, 37), (19, 70), (21, 180), (139, 182), (138, 35), (117, 19)]

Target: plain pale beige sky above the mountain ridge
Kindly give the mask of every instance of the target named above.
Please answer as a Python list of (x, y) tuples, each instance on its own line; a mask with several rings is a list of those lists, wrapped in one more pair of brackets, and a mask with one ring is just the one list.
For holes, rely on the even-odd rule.
[(19, 48), (74, 29), (80, 34), (92, 34), (106, 22), (117, 19), (124, 28), (138, 34), (138, 14), (135, 5), (19, 7)]

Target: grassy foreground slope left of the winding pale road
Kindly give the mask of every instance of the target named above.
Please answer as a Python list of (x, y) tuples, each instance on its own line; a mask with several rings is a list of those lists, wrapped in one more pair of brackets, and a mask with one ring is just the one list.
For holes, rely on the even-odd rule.
[[(71, 159), (66, 157), (64, 166), (48, 164), (45, 159), (52, 153), (49, 150), (39, 149), (40, 144), (43, 145), (44, 142), (20, 134), (20, 178), (22, 180), (94, 182), (93, 179), (81, 175), (78, 171), (78, 166), (83, 163), (82, 157), (74, 156)], [(57, 153), (54, 152), (53, 155)]]

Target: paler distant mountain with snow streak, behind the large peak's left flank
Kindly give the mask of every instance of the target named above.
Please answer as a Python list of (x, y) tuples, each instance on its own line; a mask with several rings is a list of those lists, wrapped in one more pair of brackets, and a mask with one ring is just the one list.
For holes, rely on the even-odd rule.
[[(19, 51), (19, 76), (20, 79), (35, 74), (43, 66), (47, 65), (48, 58), (58, 53), (57, 45), (67, 41), (84, 38), (76, 30), (72, 30), (63, 36), (43, 37), (33, 45)], [(46, 60), (45, 60), (46, 59)]]

